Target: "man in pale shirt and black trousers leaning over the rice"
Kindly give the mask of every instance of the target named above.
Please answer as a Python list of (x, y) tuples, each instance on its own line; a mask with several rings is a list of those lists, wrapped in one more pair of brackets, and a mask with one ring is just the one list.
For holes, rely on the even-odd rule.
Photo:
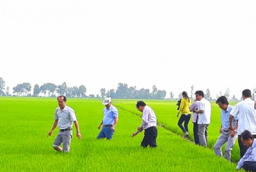
[(138, 130), (132, 133), (132, 137), (136, 136), (142, 130), (145, 130), (144, 137), (141, 142), (143, 148), (147, 148), (149, 145), (150, 148), (156, 148), (156, 137), (157, 137), (157, 120), (156, 114), (153, 109), (145, 104), (143, 101), (138, 101), (136, 107), (142, 113), (142, 123), (138, 127)]

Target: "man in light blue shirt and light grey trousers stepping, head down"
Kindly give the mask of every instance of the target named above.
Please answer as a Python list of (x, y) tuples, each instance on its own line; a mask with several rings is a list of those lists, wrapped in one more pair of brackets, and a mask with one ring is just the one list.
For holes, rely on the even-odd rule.
[(221, 96), (216, 100), (216, 104), (219, 105), (221, 109), (221, 127), (220, 127), (220, 137), (218, 137), (218, 140), (216, 141), (214, 145), (214, 153), (215, 155), (218, 155), (222, 157), (222, 152), (221, 152), (221, 147), (227, 143), (226, 148), (225, 148), (225, 159), (230, 160), (231, 158), (231, 151), (234, 147), (234, 144), (237, 139), (237, 119), (238, 117), (233, 119), (232, 121), (232, 126), (234, 127), (234, 131), (228, 132), (228, 127), (229, 127), (229, 116), (230, 116), (230, 111), (233, 109), (233, 106), (228, 104), (228, 100), (225, 96)]

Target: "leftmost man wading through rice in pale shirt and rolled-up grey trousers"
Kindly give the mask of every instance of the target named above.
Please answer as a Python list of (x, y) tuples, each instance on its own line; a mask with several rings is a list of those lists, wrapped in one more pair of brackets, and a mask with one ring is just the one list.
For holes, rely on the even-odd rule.
[[(53, 130), (58, 127), (60, 131), (53, 143), (53, 148), (59, 152), (69, 152), (70, 151), (70, 143), (72, 139), (72, 126), (73, 122), (76, 126), (77, 134), (76, 136), (81, 139), (82, 135), (79, 130), (79, 125), (76, 119), (76, 114), (71, 107), (66, 105), (67, 98), (63, 95), (57, 98), (58, 104), (60, 107), (57, 107), (54, 114), (54, 123), (52, 125), (51, 131), (48, 133), (48, 136), (52, 135)], [(63, 148), (60, 147), (61, 143), (63, 143)]]

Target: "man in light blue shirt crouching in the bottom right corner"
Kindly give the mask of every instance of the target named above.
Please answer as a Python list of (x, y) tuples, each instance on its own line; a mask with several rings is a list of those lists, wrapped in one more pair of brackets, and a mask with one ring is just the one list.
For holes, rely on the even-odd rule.
[(250, 131), (244, 130), (241, 134), (241, 141), (248, 150), (237, 163), (236, 169), (245, 169), (246, 171), (256, 171), (256, 139)]

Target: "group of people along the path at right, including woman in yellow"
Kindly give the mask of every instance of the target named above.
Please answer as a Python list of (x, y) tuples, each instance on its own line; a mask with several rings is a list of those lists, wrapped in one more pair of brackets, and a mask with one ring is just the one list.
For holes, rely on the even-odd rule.
[[(188, 137), (188, 123), (193, 112), (193, 135), (196, 145), (207, 146), (208, 126), (211, 123), (211, 102), (204, 98), (203, 91), (196, 91), (196, 99), (193, 104), (190, 103), (186, 91), (182, 93), (178, 125)], [(225, 147), (225, 159), (231, 160), (231, 152), (238, 137), (241, 159), (237, 163), (236, 169), (245, 169), (246, 171), (256, 171), (256, 102), (252, 100), (252, 93), (246, 89), (242, 92), (243, 101), (238, 102), (236, 106), (228, 104), (227, 97), (221, 96), (216, 100), (216, 104), (221, 109), (220, 136), (214, 144), (215, 155), (223, 157), (221, 147)], [(185, 121), (185, 122), (184, 122)], [(184, 122), (184, 127), (182, 123)]]

